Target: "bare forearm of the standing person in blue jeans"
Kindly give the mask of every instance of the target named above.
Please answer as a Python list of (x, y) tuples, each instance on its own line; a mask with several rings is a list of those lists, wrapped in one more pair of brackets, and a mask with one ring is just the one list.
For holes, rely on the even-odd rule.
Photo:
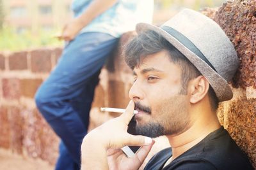
[(83, 27), (90, 24), (94, 18), (111, 8), (111, 6), (113, 6), (117, 1), (118, 0), (92, 1), (88, 8), (86, 8), (86, 10), (84, 10), (79, 17), (72, 19), (71, 22), (65, 25), (60, 39), (64, 39), (65, 41), (74, 39), (77, 33), (83, 29)]

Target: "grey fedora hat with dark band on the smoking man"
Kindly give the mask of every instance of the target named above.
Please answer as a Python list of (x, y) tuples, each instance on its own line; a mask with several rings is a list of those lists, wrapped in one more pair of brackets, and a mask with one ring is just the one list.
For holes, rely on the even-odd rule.
[(153, 30), (161, 34), (207, 78), (219, 101), (232, 99), (228, 81), (239, 66), (234, 46), (221, 27), (193, 10), (182, 10), (161, 27), (140, 23), (136, 32)]

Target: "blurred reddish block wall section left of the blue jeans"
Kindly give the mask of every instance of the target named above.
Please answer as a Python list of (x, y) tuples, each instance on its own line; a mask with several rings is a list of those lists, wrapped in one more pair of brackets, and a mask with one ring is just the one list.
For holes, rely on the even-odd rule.
[(33, 97), (61, 48), (0, 54), (0, 147), (54, 164), (58, 141)]

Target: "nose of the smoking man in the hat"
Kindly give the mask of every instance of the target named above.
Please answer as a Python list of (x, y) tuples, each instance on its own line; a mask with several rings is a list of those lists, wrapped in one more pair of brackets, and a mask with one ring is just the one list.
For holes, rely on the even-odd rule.
[(132, 85), (131, 89), (129, 90), (129, 97), (133, 101), (140, 101), (144, 98), (145, 92), (142, 89), (142, 86), (138, 81), (135, 81)]

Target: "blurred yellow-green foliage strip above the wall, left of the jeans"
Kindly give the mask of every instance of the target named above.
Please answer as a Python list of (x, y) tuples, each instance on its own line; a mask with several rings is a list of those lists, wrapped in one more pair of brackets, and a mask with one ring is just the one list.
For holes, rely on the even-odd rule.
[(62, 41), (54, 38), (54, 31), (40, 31), (38, 34), (31, 34), (24, 31), (17, 34), (10, 27), (3, 27), (0, 31), (0, 51), (27, 50), (42, 46), (61, 46)]

